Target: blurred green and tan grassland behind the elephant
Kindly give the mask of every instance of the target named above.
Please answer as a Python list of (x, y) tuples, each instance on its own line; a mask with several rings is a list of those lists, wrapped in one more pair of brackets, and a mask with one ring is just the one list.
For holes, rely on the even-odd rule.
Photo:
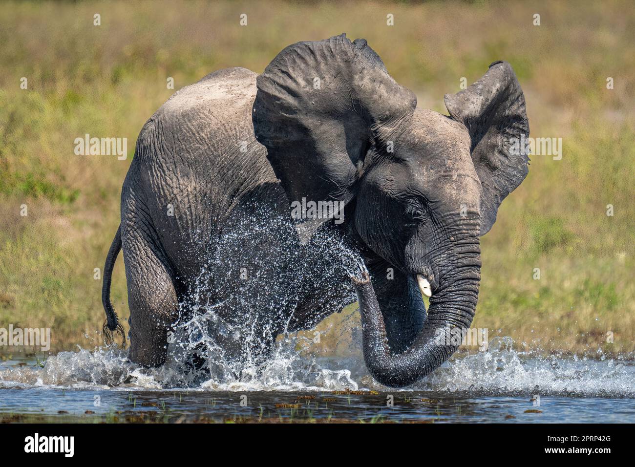
[[(121, 184), (145, 121), (209, 72), (262, 72), (285, 46), (341, 32), (368, 39), (418, 105), (443, 113), (444, 93), (457, 92), (462, 77), (471, 84), (491, 62), (511, 62), (531, 136), (561, 137), (563, 158), (534, 156), (481, 239), (474, 327), (490, 339), (511, 336), (519, 349), (632, 357), (635, 9), (627, 1), (4, 2), (0, 327), (51, 327), (54, 350), (100, 345), (93, 269), (119, 224)], [(128, 158), (76, 156), (74, 139), (85, 133), (127, 137)], [(121, 255), (112, 301), (127, 318)], [(358, 327), (354, 307), (332, 316), (314, 351), (344, 351)]]

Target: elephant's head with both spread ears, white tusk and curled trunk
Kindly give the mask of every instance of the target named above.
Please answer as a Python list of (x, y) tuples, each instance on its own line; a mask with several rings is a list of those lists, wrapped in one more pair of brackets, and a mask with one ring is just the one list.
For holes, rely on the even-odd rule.
[[(438, 328), (471, 325), (479, 236), (528, 171), (526, 151), (511, 150), (529, 133), (511, 66), (446, 95), (449, 117), (417, 109), (366, 41), (344, 34), (287, 47), (257, 83), (256, 137), (289, 200), (342, 201), (375, 265), (372, 283), (354, 281), (368, 369), (389, 386), (417, 381), (457, 348)], [(306, 240), (325, 220), (298, 232)]]

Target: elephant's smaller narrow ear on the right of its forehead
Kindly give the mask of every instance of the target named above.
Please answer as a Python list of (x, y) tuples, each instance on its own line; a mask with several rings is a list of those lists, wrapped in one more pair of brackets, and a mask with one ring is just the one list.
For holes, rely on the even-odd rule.
[(481, 235), (496, 220), (498, 206), (525, 179), (529, 165), (529, 122), (525, 96), (507, 62), (494, 62), (483, 78), (445, 95), (450, 116), (463, 123), (472, 140), (472, 161), (483, 192)]

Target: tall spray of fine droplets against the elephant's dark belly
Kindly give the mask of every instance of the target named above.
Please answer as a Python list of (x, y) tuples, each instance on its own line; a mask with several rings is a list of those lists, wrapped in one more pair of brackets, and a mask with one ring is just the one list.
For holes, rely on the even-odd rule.
[(175, 370), (190, 386), (210, 377), (228, 384), (253, 379), (288, 358), (274, 345), (276, 336), (306, 328), (296, 321), (307, 319), (298, 317), (307, 309), (321, 310), (317, 324), (354, 302), (350, 277), (365, 270), (335, 226), (324, 225), (300, 245), (286, 213), (262, 203), (240, 210), (206, 247), (172, 330), (168, 354), (182, 362)]

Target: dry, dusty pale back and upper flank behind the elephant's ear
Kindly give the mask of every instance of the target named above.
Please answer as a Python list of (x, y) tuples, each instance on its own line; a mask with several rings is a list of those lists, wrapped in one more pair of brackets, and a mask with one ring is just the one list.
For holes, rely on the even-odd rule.
[(257, 193), (277, 204), (284, 196), (253, 132), (256, 77), (244, 68), (208, 74), (177, 91), (139, 135), (135, 179), (182, 274), (199, 271), (204, 249), (241, 199)]

